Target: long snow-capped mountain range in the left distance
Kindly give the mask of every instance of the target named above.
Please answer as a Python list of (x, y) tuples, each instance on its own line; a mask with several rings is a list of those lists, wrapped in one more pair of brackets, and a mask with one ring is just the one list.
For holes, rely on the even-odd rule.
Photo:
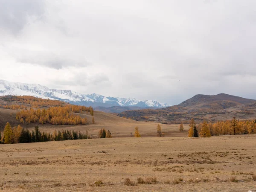
[(96, 93), (81, 94), (71, 90), (49, 89), (40, 84), (0, 80), (0, 96), (5, 95), (29, 95), (43, 99), (57, 99), (76, 105), (91, 105), (93, 107), (134, 106), (141, 108), (165, 108), (169, 106), (154, 100), (140, 101), (135, 98), (105, 97)]

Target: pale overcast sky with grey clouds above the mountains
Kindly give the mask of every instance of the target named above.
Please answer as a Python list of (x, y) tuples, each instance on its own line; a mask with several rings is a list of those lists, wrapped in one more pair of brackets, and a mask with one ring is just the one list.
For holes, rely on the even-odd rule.
[(0, 0), (0, 79), (179, 104), (256, 99), (255, 0)]

